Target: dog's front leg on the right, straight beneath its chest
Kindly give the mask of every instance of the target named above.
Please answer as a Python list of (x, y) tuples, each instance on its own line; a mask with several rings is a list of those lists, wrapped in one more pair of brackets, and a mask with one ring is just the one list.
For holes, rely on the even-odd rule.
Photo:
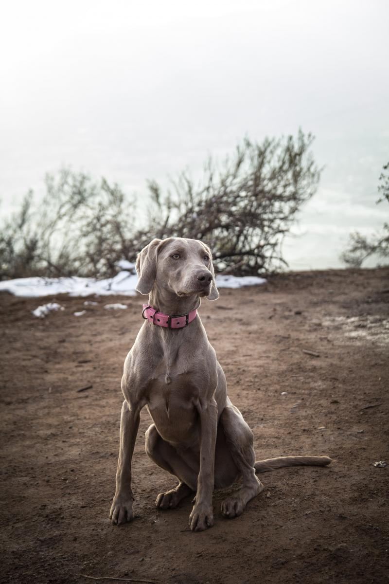
[(218, 405), (215, 399), (197, 404), (199, 413), (200, 470), (197, 493), (189, 526), (192, 531), (204, 531), (213, 525), (212, 493), (215, 474), (215, 447), (218, 427)]

